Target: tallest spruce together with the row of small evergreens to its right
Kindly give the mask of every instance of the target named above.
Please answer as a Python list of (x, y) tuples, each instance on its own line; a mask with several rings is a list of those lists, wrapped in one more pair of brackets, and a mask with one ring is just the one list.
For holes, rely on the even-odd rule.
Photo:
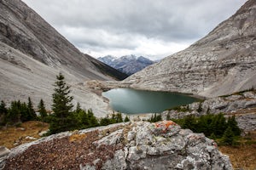
[[(111, 117), (102, 118), (100, 121), (94, 116), (91, 110), (85, 111), (81, 109), (78, 103), (75, 111), (73, 111), (73, 96), (70, 96), (70, 87), (64, 81), (65, 77), (60, 73), (56, 77), (57, 81), (54, 86), (53, 105), (51, 114), (48, 117), (49, 133), (60, 133), (74, 129), (83, 129), (88, 127), (105, 126), (108, 124), (123, 122), (120, 113), (113, 114)], [(130, 121), (125, 117), (125, 121)]]

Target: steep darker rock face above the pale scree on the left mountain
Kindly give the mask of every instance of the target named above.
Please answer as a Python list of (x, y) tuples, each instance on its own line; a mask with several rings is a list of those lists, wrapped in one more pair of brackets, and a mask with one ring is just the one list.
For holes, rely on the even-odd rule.
[(1, 42), (46, 65), (73, 68), (80, 77), (107, 79), (93, 71), (96, 68), (88, 56), (81, 54), (25, 3), (3, 0), (0, 8)]

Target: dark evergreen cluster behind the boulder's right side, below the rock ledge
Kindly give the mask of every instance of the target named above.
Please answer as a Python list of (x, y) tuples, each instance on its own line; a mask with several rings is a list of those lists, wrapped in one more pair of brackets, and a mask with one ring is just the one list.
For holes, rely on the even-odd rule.
[(223, 113), (200, 117), (186, 116), (183, 119), (172, 119), (172, 121), (182, 128), (189, 128), (194, 133), (204, 133), (211, 139), (221, 139), (223, 144), (234, 144), (235, 137), (241, 134), (235, 116), (230, 116), (226, 120)]

